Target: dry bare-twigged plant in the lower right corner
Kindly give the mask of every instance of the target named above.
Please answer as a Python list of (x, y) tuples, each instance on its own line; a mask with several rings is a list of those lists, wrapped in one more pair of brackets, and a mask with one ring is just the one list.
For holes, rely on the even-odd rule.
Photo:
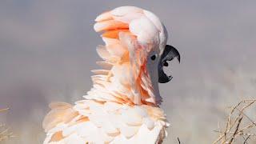
[(249, 110), (253, 105), (256, 106), (256, 99), (243, 100), (230, 107), (226, 127), (224, 130), (214, 130), (219, 133), (219, 137), (213, 143), (231, 144), (238, 138), (243, 138), (243, 143), (246, 144), (250, 138), (256, 137), (256, 121), (245, 114), (245, 110)]

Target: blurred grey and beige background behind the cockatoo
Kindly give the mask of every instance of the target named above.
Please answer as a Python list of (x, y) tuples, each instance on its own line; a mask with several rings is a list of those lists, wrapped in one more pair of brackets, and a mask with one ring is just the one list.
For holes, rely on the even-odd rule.
[[(53, 101), (82, 99), (102, 44), (94, 18), (117, 6), (153, 11), (182, 55), (160, 85), (170, 121), (165, 143), (211, 143), (226, 107), (256, 94), (256, 1), (1, 0), (0, 114), (15, 138), (42, 143)], [(256, 110), (252, 114), (256, 114)]]

